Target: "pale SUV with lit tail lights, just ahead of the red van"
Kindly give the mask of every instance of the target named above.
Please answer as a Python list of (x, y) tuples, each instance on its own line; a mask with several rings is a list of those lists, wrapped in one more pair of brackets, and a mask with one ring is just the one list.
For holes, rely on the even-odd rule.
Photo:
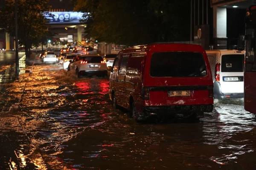
[(106, 76), (106, 62), (98, 55), (78, 55), (68, 66), (68, 70), (76, 71), (77, 77), (82, 75)]

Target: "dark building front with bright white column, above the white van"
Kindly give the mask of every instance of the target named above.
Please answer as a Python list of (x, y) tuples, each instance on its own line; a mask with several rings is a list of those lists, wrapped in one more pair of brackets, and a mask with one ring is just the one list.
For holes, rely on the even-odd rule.
[(256, 0), (191, 0), (191, 41), (205, 49), (236, 49), (245, 11)]

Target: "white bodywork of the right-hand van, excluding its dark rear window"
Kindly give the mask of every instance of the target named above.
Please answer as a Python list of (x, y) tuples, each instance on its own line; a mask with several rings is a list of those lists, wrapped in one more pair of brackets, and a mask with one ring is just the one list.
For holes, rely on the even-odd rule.
[[(244, 51), (237, 50), (207, 50), (206, 51), (211, 71), (212, 79), (214, 83), (214, 97), (216, 99), (224, 98), (243, 98), (244, 97), (244, 72), (243, 69), (239, 72), (233, 71), (223, 71), (222, 67), (225, 66), (222, 57), (223, 56), (232, 56), (232, 57), (241, 57), (244, 55)], [(232, 61), (232, 60), (231, 60)], [(232, 61), (234, 62), (234, 61)], [(241, 59), (241, 67), (243, 65), (243, 59)], [(215, 79), (215, 65), (219, 63), (220, 65), (220, 80), (216, 81)], [(230, 65), (232, 67), (232, 65)], [(236, 81), (227, 81), (225, 79), (236, 78)]]

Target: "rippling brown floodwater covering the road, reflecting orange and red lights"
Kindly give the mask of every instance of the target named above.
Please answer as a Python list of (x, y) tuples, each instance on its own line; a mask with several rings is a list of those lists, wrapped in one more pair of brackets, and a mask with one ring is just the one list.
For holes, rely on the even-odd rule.
[(199, 122), (135, 122), (115, 110), (108, 79), (34, 65), (0, 84), (0, 170), (251, 170), (256, 116), (215, 103)]

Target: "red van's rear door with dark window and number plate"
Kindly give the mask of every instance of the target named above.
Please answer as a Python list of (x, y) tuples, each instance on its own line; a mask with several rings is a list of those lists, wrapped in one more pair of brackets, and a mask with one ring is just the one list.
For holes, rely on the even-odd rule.
[[(207, 60), (207, 62), (206, 62)], [(200, 105), (212, 101), (212, 75), (200, 52), (155, 52), (150, 61), (148, 106)], [(209, 92), (211, 91), (211, 92)]]

